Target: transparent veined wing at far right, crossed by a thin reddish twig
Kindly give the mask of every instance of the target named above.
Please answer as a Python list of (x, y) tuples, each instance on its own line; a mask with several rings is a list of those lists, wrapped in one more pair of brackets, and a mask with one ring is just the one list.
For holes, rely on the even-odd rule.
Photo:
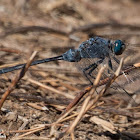
[[(129, 66), (140, 62), (140, 47), (127, 45), (124, 53), (118, 57), (125, 58), (123, 69), (128, 68)], [(119, 93), (121, 98), (131, 101), (131, 105), (136, 105), (140, 103), (140, 69), (134, 69), (126, 74), (123, 74), (112, 84), (111, 93)], [(119, 92), (118, 92), (119, 91)], [(132, 98), (129, 98), (129, 96)]]

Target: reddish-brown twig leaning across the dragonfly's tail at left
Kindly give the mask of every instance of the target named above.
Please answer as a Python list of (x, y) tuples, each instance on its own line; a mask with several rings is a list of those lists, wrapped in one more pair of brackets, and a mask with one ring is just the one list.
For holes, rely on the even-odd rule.
[(27, 64), (24, 66), (24, 68), (20, 71), (19, 74), (16, 75), (15, 79), (12, 81), (11, 85), (9, 85), (7, 91), (3, 94), (1, 100), (0, 100), (0, 109), (4, 103), (4, 101), (6, 100), (6, 98), (8, 97), (8, 95), (14, 90), (15, 85), (19, 82), (19, 80), (24, 76), (24, 74), (26, 73), (26, 71), (28, 70), (28, 68), (30, 67), (30, 64), (32, 63), (35, 55), (36, 55), (37, 51), (35, 51), (32, 56), (29, 58), (29, 60), (27, 61)]

